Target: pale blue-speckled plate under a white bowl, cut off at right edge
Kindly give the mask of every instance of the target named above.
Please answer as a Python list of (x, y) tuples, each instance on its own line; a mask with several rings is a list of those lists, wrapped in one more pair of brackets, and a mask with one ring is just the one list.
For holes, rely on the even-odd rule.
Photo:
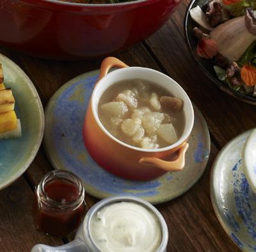
[(231, 140), (218, 154), (211, 174), (211, 198), (218, 219), (243, 251), (256, 251), (256, 195), (241, 165), (246, 131)]

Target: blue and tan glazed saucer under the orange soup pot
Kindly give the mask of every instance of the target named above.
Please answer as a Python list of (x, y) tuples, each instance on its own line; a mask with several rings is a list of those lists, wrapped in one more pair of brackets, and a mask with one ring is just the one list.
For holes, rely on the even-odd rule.
[(92, 71), (70, 80), (47, 105), (44, 146), (54, 168), (78, 175), (86, 193), (97, 198), (131, 195), (159, 204), (188, 191), (204, 172), (210, 152), (209, 131), (199, 110), (195, 107), (195, 125), (182, 172), (169, 172), (146, 182), (116, 177), (100, 168), (83, 144), (84, 115), (98, 76), (99, 71)]

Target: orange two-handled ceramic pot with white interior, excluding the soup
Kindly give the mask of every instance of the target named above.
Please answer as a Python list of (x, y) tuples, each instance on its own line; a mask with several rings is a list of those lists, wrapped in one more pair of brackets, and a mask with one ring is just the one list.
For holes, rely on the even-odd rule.
[[(108, 71), (113, 68), (115, 71)], [(164, 87), (173, 96), (184, 101), (185, 126), (175, 144), (161, 149), (141, 149), (113, 137), (100, 122), (98, 103), (109, 86), (122, 80), (141, 78)], [(178, 172), (184, 168), (188, 137), (194, 123), (194, 112), (186, 92), (172, 78), (150, 68), (128, 67), (122, 61), (108, 57), (102, 61), (100, 77), (93, 90), (83, 126), (86, 149), (100, 167), (112, 174), (133, 180), (149, 180), (166, 172)]]

